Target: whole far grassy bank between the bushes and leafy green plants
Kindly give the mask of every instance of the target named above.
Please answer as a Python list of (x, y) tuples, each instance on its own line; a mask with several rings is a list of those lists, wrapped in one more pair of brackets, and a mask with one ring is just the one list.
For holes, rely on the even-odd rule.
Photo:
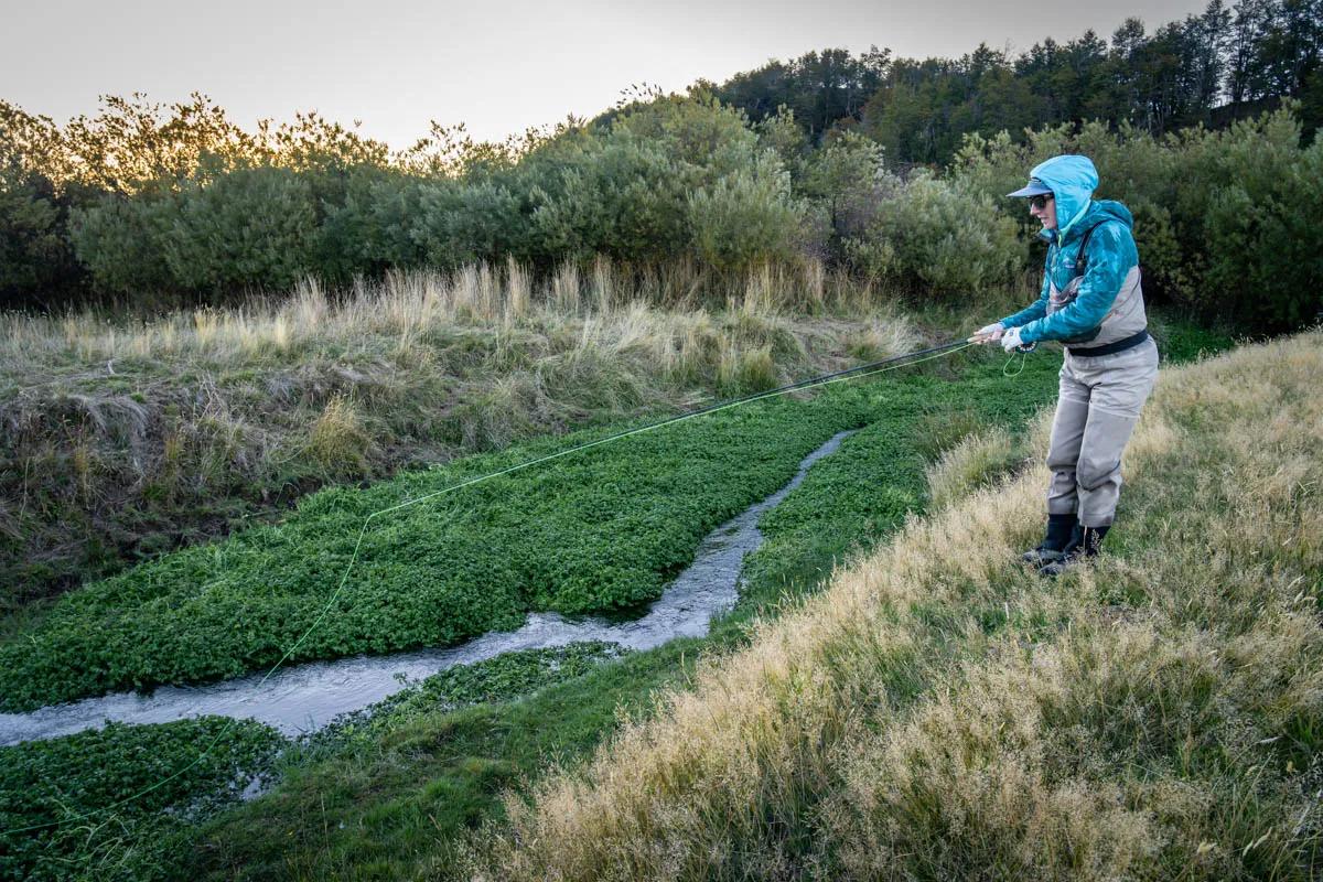
[[(720, 284), (718, 284), (720, 282)], [(790, 317), (795, 316), (795, 317)], [(0, 612), (320, 487), (912, 349), (820, 264), (415, 272), (127, 323), (0, 317)]]

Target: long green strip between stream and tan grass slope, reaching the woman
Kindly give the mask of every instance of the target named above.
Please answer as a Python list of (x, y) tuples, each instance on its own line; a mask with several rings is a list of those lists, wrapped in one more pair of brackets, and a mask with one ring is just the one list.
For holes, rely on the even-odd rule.
[[(1180, 357), (1226, 345), (1188, 328), (1164, 331), (1166, 349)], [(415, 705), (389, 731), (292, 770), (271, 795), (216, 821), (189, 871), (214, 879), (456, 875), (466, 834), (501, 817), (504, 788), (528, 788), (548, 763), (577, 767), (622, 722), (654, 714), (660, 693), (691, 689), (697, 664), (746, 645), (754, 623), (775, 619), (835, 566), (901, 528), (935, 487), (958, 497), (1023, 467), (1024, 428), (1053, 398), (1058, 365), (1040, 354), (1005, 377), (992, 357), (942, 376), (889, 376), (873, 389), (872, 422), (763, 516), (766, 541), (745, 562), (740, 604), (708, 639), (632, 653), (519, 701), (458, 714)], [(987, 455), (1003, 443), (996, 439), (1003, 455)]]

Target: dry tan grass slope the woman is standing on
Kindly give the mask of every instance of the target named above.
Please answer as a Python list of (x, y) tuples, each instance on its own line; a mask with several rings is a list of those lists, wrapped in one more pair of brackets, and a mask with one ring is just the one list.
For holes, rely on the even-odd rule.
[(1319, 332), (1166, 369), (1098, 565), (1013, 562), (1041, 465), (912, 521), (511, 796), (468, 874), (1316, 878), (1320, 376)]

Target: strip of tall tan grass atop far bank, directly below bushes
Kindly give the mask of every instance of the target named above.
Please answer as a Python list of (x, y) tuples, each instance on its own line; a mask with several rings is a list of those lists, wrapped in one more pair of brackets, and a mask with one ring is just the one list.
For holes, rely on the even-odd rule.
[[(689, 264), (639, 275), (606, 258), (595, 261), (586, 279), (577, 264), (568, 263), (536, 288), (528, 268), (513, 261), (503, 268), (478, 264), (452, 274), (389, 274), (380, 284), (359, 283), (335, 298), (308, 279), (288, 296), (234, 309), (183, 311), (127, 327), (90, 313), (56, 319), (5, 313), (0, 315), (0, 352), (38, 364), (49, 357), (89, 366), (108, 361), (111, 369), (120, 358), (172, 356), (239, 365), (318, 349), (328, 340), (384, 336), (407, 352), (438, 328), (546, 327), (583, 317), (598, 327), (632, 324), (632, 340), (638, 341), (644, 339), (638, 325), (646, 317), (652, 325), (648, 329), (660, 332), (655, 340), (647, 336), (654, 342), (651, 354), (662, 354), (676, 332), (656, 325), (689, 313), (701, 321), (708, 313), (700, 308), (700, 294), (712, 284), (713, 279)], [(828, 278), (816, 263), (758, 267), (740, 290), (741, 296), (726, 299), (730, 315), (775, 321), (779, 315), (844, 311), (856, 316), (852, 324), (865, 321), (863, 332), (888, 354), (916, 337), (914, 327), (898, 311), (878, 303), (868, 288)]]

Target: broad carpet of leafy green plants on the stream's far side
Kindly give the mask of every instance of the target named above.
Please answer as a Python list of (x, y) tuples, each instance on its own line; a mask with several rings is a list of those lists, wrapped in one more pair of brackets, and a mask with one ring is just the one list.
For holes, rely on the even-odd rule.
[[(316, 493), (283, 524), (65, 596), (0, 647), (0, 703), (29, 709), (233, 677), (296, 643), (292, 661), (385, 653), (513, 627), (529, 610), (638, 606), (712, 528), (785, 484), (833, 432), (860, 424), (868, 403), (861, 389), (759, 402), (492, 479), (374, 521), (352, 570), (369, 513), (605, 432)], [(312, 628), (347, 570), (344, 591)]]

